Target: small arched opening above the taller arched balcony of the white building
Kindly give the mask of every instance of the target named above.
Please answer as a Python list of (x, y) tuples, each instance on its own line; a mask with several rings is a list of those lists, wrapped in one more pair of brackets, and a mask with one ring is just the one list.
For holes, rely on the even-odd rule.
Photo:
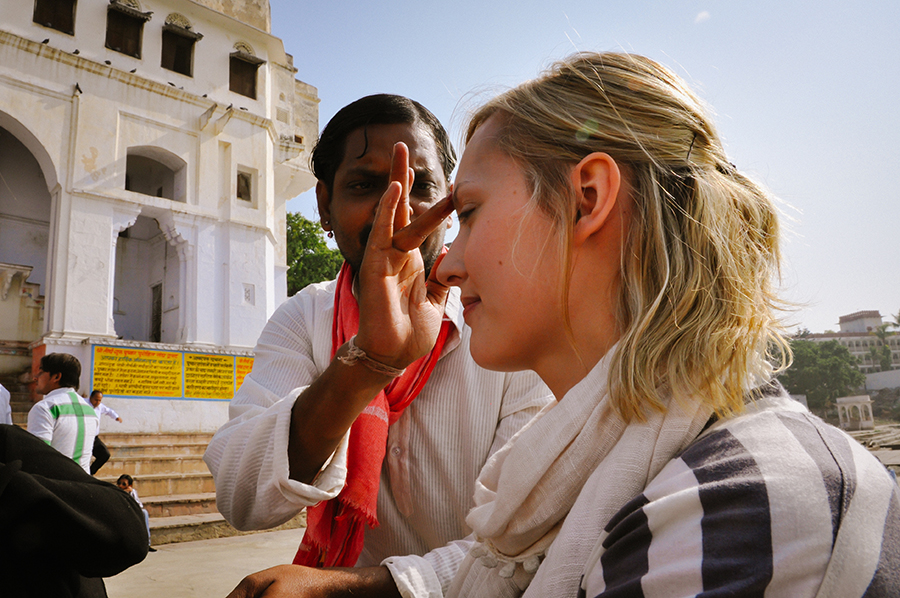
[(185, 203), (185, 166), (184, 160), (162, 148), (130, 147), (125, 159), (125, 190)]

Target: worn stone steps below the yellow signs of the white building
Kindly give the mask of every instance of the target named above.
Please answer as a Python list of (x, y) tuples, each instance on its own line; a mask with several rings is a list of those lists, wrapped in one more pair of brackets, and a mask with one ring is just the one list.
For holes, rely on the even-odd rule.
[[(10, 391), (13, 423), (25, 428), (32, 406), (28, 385), (15, 377), (3, 377), (0, 383)], [(111, 456), (97, 478), (111, 484), (123, 473), (134, 478), (150, 514), (154, 546), (254, 533), (236, 530), (216, 510), (216, 486), (203, 461), (211, 433), (101, 433), (100, 438)], [(305, 526), (302, 512), (276, 529)], [(298, 544), (300, 538), (298, 533)]]

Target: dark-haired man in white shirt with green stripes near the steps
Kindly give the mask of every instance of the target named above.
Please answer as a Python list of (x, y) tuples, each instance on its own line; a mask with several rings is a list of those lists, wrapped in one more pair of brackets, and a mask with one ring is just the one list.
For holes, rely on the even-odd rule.
[(28, 412), (28, 431), (90, 473), (90, 449), (100, 419), (76, 392), (80, 377), (81, 363), (74, 356), (49, 353), (41, 357), (34, 391), (44, 398)]

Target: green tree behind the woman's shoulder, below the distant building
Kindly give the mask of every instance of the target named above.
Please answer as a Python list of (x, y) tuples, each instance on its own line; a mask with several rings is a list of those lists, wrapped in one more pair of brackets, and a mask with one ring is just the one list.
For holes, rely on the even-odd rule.
[(809, 408), (821, 415), (866, 380), (856, 358), (837, 341), (793, 340), (791, 350), (794, 362), (781, 374), (781, 383), (791, 394), (806, 395)]

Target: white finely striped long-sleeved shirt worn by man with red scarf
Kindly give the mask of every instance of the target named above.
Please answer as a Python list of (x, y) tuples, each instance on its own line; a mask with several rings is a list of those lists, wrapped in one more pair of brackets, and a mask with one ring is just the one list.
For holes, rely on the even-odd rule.
[[(256, 346), (253, 371), (231, 402), (231, 419), (207, 449), (217, 506), (240, 529), (279, 525), (343, 487), (346, 437), (313, 485), (289, 479), (287, 458), (294, 401), (331, 362), (334, 291), (334, 282), (311, 285), (275, 312)], [(465, 516), (481, 467), (552, 400), (531, 372), (489, 372), (472, 361), (458, 289), (445, 313), (456, 330), (425, 389), (390, 427), (380, 526), (366, 530), (357, 563), (424, 555), (391, 560), (405, 595), (433, 595), (449, 583), (467, 548), (454, 541), (470, 533)], [(416, 581), (422, 577), (427, 583)]]

